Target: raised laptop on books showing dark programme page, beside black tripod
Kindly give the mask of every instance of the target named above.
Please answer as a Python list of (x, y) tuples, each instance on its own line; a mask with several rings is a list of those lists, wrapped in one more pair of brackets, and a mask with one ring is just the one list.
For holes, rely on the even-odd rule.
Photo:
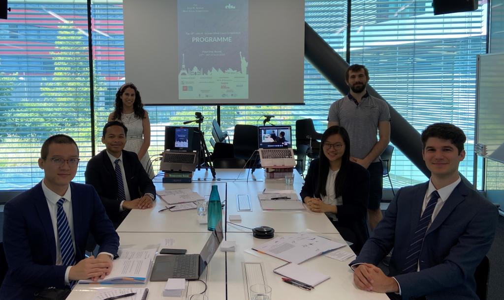
[(161, 159), (161, 171), (194, 171), (196, 170), (197, 151), (191, 151), (192, 128), (178, 127), (173, 130), (167, 150)]

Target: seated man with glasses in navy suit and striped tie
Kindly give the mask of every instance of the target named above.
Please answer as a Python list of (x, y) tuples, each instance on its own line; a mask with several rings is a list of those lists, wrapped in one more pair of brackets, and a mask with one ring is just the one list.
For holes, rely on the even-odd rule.
[[(71, 137), (49, 137), (38, 160), (44, 178), (5, 205), (9, 269), (1, 299), (33, 299), (48, 287), (64, 290), (76, 280), (110, 273), (119, 237), (95, 189), (71, 182), (78, 164), (79, 149)], [(100, 245), (96, 258), (84, 256), (89, 233)]]

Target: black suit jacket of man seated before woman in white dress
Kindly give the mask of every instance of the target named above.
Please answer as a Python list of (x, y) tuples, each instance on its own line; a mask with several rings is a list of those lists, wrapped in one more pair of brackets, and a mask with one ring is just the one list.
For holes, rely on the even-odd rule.
[[(135, 152), (122, 150), (122, 165), (132, 200), (140, 198), (146, 193), (156, 196), (154, 183), (145, 172)], [(85, 176), (86, 183), (96, 188), (108, 217), (117, 228), (124, 218), (121, 218), (121, 214), (119, 214), (121, 202), (117, 199), (117, 178), (114, 167), (108, 157), (107, 150), (103, 150), (89, 160)]]

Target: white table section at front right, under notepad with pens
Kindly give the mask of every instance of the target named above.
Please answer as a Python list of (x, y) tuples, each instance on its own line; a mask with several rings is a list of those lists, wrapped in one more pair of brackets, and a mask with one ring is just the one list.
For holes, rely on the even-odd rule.
[[(276, 234), (275, 237), (288, 234)], [(343, 243), (339, 234), (324, 234), (326, 238)], [(355, 258), (339, 261), (325, 256), (318, 256), (302, 263), (303, 266), (331, 276), (328, 280), (320, 283), (311, 291), (300, 289), (296, 286), (284, 283), (281, 275), (273, 273), (273, 269), (285, 264), (285, 261), (251, 250), (254, 245), (260, 245), (270, 240), (256, 239), (248, 233), (227, 233), (228, 241), (236, 241), (236, 252), (227, 252), (227, 298), (244, 299), (245, 290), (243, 284), (242, 262), (263, 262), (265, 267), (266, 281), (272, 288), (272, 300), (281, 299), (388, 299), (383, 293), (360, 290), (353, 284), (353, 271), (348, 263)], [(346, 251), (352, 250), (346, 246)]]

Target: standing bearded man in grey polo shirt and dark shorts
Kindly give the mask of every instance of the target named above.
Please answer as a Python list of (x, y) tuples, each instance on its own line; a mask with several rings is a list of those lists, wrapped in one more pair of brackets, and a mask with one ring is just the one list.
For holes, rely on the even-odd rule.
[[(380, 155), (390, 142), (389, 106), (380, 98), (369, 95), (366, 84), (369, 72), (354, 64), (345, 73), (350, 92), (331, 105), (328, 128), (339, 125), (350, 136), (350, 159), (369, 171), (370, 189), (367, 214), (374, 230), (382, 220), (380, 202), (383, 190), (383, 165)], [(376, 138), (376, 134), (379, 138)]]

